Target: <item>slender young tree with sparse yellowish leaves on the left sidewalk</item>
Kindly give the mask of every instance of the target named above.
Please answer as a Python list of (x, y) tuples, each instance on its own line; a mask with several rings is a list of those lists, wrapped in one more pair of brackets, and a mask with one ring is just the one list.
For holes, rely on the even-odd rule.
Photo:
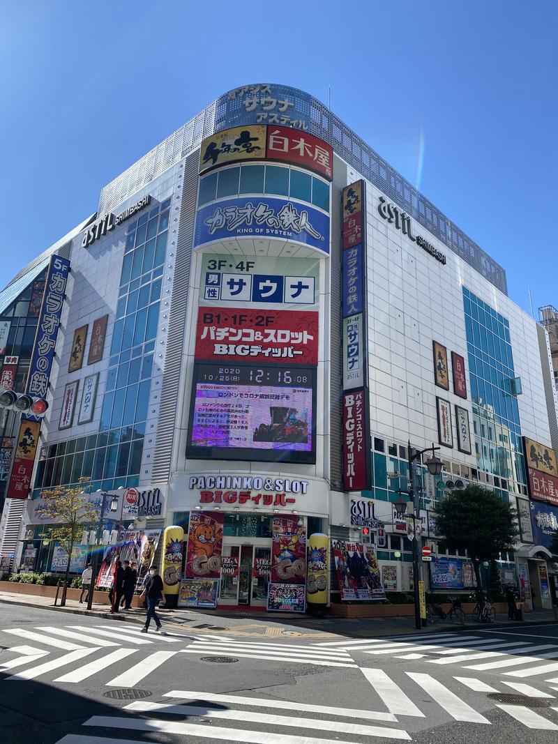
[(83, 530), (98, 518), (97, 510), (83, 491), (86, 483), (89, 483), (89, 478), (80, 478), (79, 483), (80, 485), (76, 488), (55, 486), (51, 490), (43, 491), (41, 498), (44, 504), (36, 510), (37, 516), (52, 522), (46, 529), (47, 535), (51, 541), (60, 543), (60, 547), (68, 556), (65, 586), (62, 589), (60, 602), (62, 606), (66, 603), (66, 589), (74, 545), (77, 545)]

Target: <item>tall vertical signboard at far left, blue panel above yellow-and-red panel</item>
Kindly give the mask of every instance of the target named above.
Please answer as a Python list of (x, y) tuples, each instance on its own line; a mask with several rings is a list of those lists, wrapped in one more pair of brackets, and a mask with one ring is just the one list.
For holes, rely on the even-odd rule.
[[(57, 255), (51, 257), (25, 386), (26, 393), (39, 398), (45, 398), (48, 391), (69, 272), (70, 262), (67, 259)], [(40, 428), (40, 420), (33, 416), (22, 416), (6, 498), (28, 497)]]

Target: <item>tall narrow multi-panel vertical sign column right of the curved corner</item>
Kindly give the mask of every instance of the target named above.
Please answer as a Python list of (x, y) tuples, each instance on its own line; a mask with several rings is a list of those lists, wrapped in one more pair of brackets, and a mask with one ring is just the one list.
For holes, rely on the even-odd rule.
[(370, 486), (368, 452), (368, 376), (366, 372), (366, 190), (365, 182), (344, 187), (341, 195), (343, 484), (347, 491)]

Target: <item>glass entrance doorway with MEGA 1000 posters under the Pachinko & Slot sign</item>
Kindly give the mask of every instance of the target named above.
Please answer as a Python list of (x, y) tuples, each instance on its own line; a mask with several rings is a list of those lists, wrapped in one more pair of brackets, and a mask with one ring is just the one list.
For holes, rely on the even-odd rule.
[[(260, 542), (260, 541), (254, 541)], [(219, 605), (265, 607), (271, 568), (271, 548), (267, 545), (223, 545), (222, 557), (227, 573), (221, 571)]]

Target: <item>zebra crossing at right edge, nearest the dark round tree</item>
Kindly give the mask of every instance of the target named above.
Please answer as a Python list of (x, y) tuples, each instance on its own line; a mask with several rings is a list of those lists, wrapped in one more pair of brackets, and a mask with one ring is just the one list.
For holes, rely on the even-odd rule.
[[(543, 641), (547, 640), (542, 638)], [(550, 639), (548, 639), (550, 640)], [(397, 638), (359, 638), (315, 644), (321, 650), (345, 650), (353, 658), (391, 657), (405, 661), (423, 660), (433, 667), (456, 664), (474, 672), (491, 671), (507, 677), (536, 677), (558, 671), (558, 644), (482, 638), (469, 633), (436, 633)], [(360, 666), (366, 664), (359, 661)], [(519, 668), (521, 667), (521, 668)], [(558, 677), (548, 679), (558, 682)]]

